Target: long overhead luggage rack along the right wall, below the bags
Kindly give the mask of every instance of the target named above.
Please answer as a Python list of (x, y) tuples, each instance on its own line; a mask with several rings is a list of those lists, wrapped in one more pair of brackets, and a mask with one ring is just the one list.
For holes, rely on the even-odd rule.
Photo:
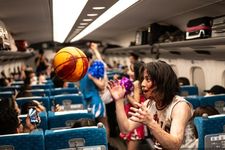
[[(110, 48), (106, 55), (129, 55), (136, 51), (143, 56), (163, 58), (187, 58), (187, 59), (213, 59), (225, 60), (225, 37), (213, 37), (205, 39), (193, 39), (168, 43), (155, 43), (153, 45), (138, 45), (126, 48)], [(202, 53), (201, 53), (202, 52)], [(158, 58), (158, 57), (157, 57)]]

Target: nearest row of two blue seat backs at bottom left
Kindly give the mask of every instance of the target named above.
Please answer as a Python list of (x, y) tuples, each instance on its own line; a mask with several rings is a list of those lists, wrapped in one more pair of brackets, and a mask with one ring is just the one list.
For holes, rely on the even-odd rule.
[(0, 135), (0, 149), (11, 150), (68, 150), (69, 148), (106, 150), (107, 143), (106, 130), (102, 125)]

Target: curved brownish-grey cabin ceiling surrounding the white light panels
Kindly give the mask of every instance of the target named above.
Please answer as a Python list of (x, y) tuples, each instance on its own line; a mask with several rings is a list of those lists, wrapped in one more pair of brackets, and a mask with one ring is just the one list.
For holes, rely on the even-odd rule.
[[(109, 8), (115, 2), (89, 0), (84, 11), (88, 13), (88, 8), (97, 3)], [(86, 12), (82, 12), (80, 18), (84, 18)], [(108, 41), (153, 22), (173, 24), (184, 30), (190, 19), (223, 14), (224, 0), (141, 0), (83, 39)], [(1, 1), (0, 19), (16, 40), (25, 39), (30, 44), (53, 40), (51, 0)], [(77, 21), (75, 26), (80, 22), (79, 19)], [(71, 31), (68, 38), (73, 33)]]

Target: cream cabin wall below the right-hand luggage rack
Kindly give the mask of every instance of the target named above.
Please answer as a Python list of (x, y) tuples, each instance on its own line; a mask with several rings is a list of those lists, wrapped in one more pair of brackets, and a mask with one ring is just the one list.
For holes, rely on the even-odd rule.
[[(112, 64), (113, 60), (120, 61), (126, 59), (127, 65), (129, 66), (129, 56), (110, 56), (107, 57), (107, 60)], [(149, 57), (142, 57), (142, 61), (145, 63), (154, 61), (155, 59)], [(189, 59), (168, 59), (168, 58), (160, 58), (160, 60), (166, 61), (170, 65), (174, 65), (177, 68), (177, 76), (178, 77), (187, 77), (191, 84), (192, 82), (192, 72), (191, 69), (193, 67), (200, 67), (203, 70), (205, 76), (205, 85), (206, 89), (210, 89), (213, 85), (218, 84), (224, 86), (225, 84), (225, 61), (216, 61), (216, 60), (189, 60)], [(125, 64), (122, 64), (125, 65)]]

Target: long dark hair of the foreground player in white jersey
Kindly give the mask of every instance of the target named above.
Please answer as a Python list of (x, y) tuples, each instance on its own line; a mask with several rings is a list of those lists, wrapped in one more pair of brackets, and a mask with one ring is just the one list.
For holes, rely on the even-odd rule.
[[(147, 70), (153, 82), (153, 95), (151, 98), (159, 101), (163, 109), (169, 105), (173, 97), (178, 94), (179, 84), (177, 76), (170, 65), (164, 61), (150, 62), (141, 68), (140, 72)], [(157, 103), (157, 102), (156, 102)]]

